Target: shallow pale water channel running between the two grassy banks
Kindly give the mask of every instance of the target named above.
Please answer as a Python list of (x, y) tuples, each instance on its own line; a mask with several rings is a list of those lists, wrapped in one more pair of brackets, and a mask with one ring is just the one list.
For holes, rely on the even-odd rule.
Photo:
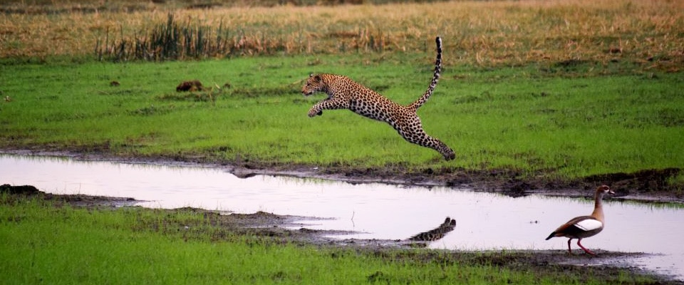
[[(77, 161), (0, 154), (0, 184), (33, 185), (44, 192), (133, 197), (145, 207), (200, 207), (333, 219), (304, 221), (309, 229), (354, 231), (343, 238), (406, 239), (452, 217), (444, 249), (566, 249), (545, 241), (572, 217), (590, 214), (593, 201), (561, 197), (512, 198), (445, 187), (401, 187), (258, 175), (241, 179), (224, 170), (169, 165)], [(588, 193), (588, 195), (591, 193)], [(625, 261), (684, 280), (684, 209), (604, 202), (606, 228), (584, 239), (589, 249), (653, 253)], [(573, 242), (579, 254), (579, 247)]]

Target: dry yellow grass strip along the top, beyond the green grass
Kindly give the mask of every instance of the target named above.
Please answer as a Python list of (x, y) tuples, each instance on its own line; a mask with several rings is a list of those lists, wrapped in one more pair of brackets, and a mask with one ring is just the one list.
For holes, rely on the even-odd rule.
[(98, 39), (145, 36), (175, 19), (216, 31), (245, 55), (426, 51), (441, 35), (451, 63), (517, 65), (626, 58), (678, 71), (684, 63), (684, 1), (452, 1), (432, 4), (171, 9), (6, 14), (0, 57), (83, 56)]

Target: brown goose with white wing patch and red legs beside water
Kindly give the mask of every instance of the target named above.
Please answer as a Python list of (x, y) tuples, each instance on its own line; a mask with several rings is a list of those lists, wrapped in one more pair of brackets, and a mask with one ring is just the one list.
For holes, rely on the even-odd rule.
[(601, 185), (596, 188), (596, 193), (594, 194), (594, 212), (589, 216), (580, 216), (569, 220), (565, 224), (561, 225), (554, 232), (549, 234), (546, 240), (551, 239), (551, 237), (567, 237), (568, 239), (568, 252), (572, 253), (570, 249), (570, 241), (572, 239), (577, 239), (577, 245), (584, 249), (584, 252), (596, 255), (591, 250), (586, 249), (580, 243), (585, 237), (593, 237), (603, 230), (603, 204), (601, 199), (605, 194), (615, 194), (610, 187), (606, 185)]

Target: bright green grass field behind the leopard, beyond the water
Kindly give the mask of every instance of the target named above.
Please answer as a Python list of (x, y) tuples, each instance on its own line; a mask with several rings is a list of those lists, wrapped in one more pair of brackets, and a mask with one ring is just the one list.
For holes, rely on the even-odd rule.
[[(427, 133), (457, 152), (451, 162), (348, 110), (308, 118), (324, 95), (299, 93), (309, 73), (331, 72), (410, 103), (427, 87), (429, 53), (5, 65), (0, 92), (11, 101), (0, 102), (0, 147), (238, 164), (507, 168), (561, 178), (682, 168), (681, 74), (612, 64), (446, 66), (419, 115)], [(195, 78), (232, 87), (175, 92)]]

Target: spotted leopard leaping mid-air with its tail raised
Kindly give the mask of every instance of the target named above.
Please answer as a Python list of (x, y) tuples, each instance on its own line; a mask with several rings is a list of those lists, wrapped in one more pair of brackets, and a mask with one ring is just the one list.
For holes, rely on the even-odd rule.
[(432, 81), (420, 98), (408, 105), (400, 105), (389, 98), (380, 95), (371, 88), (356, 83), (347, 76), (331, 73), (311, 74), (307, 78), (301, 93), (309, 96), (314, 93), (326, 93), (328, 98), (321, 100), (311, 107), (309, 117), (323, 115), (323, 110), (348, 109), (373, 120), (390, 124), (402, 138), (408, 142), (429, 147), (440, 152), (445, 160), (456, 157), (454, 150), (441, 140), (433, 138), (423, 130), (423, 123), (418, 118), (417, 110), (427, 102), (435, 90), (442, 72), (442, 38), (435, 38), (437, 45), (437, 59)]

